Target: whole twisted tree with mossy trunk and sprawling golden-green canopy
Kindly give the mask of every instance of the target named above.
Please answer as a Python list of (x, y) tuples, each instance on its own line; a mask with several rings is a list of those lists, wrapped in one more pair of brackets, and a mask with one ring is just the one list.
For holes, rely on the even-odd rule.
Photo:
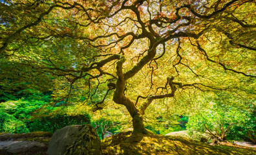
[[(56, 101), (127, 108), (146, 132), (151, 103), (229, 91), (255, 95), (253, 0), (4, 0), (0, 56), (52, 74)], [(168, 106), (167, 106), (168, 107)]]

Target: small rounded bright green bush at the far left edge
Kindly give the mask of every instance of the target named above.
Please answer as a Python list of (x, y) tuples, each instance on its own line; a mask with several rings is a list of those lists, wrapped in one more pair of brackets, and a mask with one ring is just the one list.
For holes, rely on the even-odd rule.
[(0, 112), (0, 132), (23, 133), (28, 129), (22, 121), (5, 112)]

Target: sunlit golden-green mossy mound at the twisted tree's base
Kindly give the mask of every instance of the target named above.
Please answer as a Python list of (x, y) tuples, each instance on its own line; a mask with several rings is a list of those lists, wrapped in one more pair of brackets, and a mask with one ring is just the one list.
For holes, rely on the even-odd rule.
[(110, 138), (101, 141), (103, 154), (229, 154), (246, 155), (256, 154), (255, 149), (239, 147), (237, 145), (215, 145), (195, 141), (193, 139), (180, 136), (162, 136), (149, 133), (131, 134), (121, 132)]

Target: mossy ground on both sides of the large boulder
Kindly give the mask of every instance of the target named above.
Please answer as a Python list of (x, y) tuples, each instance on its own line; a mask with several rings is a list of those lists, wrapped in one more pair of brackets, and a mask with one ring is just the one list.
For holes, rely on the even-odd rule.
[[(37, 141), (48, 146), (50, 137), (49, 132), (32, 132), (28, 134), (0, 134), (0, 141), (26, 140)], [(239, 145), (238, 145), (239, 144)], [(245, 146), (241, 146), (245, 145)], [(132, 135), (130, 131), (121, 132), (110, 138), (103, 139), (101, 143), (103, 154), (229, 154), (246, 155), (256, 154), (256, 145), (249, 143), (230, 143), (228, 141), (221, 145), (211, 146), (207, 143), (194, 141), (181, 136), (162, 136), (156, 134), (136, 134)], [(249, 147), (255, 147), (254, 149)], [(20, 152), (16, 155), (46, 155), (47, 147), (41, 149), (32, 148), (26, 152)], [(14, 155), (6, 150), (0, 149), (0, 155)]]

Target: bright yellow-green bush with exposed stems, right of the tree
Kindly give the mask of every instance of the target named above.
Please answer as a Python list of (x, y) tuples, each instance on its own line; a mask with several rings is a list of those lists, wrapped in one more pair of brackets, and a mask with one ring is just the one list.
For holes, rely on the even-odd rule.
[[(187, 123), (188, 134), (192, 136), (199, 132), (200, 134), (207, 133), (213, 138), (219, 140), (224, 139), (244, 139), (246, 128), (248, 127), (248, 120), (250, 114), (239, 108), (230, 106), (218, 106), (214, 105), (209, 110), (202, 110), (195, 114), (195, 116), (189, 117)], [(198, 137), (192, 136), (192, 137)]]

